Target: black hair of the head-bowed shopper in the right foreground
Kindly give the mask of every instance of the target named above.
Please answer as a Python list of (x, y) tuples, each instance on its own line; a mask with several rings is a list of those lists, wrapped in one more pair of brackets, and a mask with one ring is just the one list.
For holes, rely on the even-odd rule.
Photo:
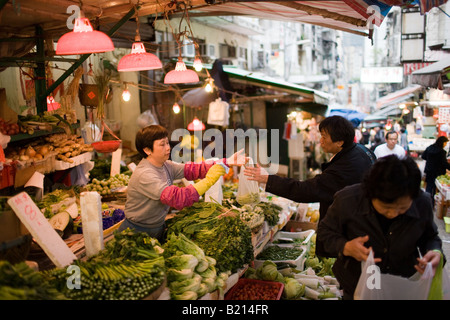
[(421, 180), (420, 169), (411, 157), (389, 155), (374, 163), (363, 179), (363, 188), (369, 199), (393, 203), (404, 196), (417, 198)]

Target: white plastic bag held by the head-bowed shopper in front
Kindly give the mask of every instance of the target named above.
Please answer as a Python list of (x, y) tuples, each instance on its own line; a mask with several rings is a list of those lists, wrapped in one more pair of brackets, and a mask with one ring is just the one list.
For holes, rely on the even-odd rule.
[(433, 267), (428, 263), (424, 273), (410, 278), (381, 273), (375, 264), (373, 251), (361, 263), (361, 276), (356, 286), (355, 300), (427, 300), (433, 280)]

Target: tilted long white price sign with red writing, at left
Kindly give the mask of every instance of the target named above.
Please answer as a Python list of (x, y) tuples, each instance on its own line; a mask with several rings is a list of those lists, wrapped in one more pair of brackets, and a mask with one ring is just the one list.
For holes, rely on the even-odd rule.
[(10, 198), (8, 204), (56, 267), (68, 266), (77, 259), (28, 193), (19, 193)]

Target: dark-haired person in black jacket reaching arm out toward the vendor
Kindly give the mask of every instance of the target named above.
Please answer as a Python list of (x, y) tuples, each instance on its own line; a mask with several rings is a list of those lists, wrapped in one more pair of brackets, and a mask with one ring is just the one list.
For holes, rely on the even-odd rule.
[[(364, 174), (376, 160), (373, 153), (361, 144), (353, 142), (355, 130), (347, 119), (331, 116), (319, 124), (320, 146), (325, 153), (332, 154), (329, 162), (322, 164), (322, 173), (314, 178), (299, 181), (277, 175), (267, 175), (256, 168), (245, 168), (249, 180), (266, 184), (266, 191), (295, 202), (320, 202), (320, 220), (326, 215), (336, 191), (362, 181)], [(321, 245), (316, 244), (320, 256)]]

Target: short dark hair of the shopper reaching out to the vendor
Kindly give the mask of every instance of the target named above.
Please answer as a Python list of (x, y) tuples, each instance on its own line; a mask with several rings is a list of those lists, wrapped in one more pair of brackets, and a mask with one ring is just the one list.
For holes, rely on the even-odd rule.
[(319, 123), (319, 131), (325, 131), (330, 135), (331, 141), (344, 141), (342, 148), (349, 147), (355, 140), (353, 124), (341, 116), (331, 116)]

